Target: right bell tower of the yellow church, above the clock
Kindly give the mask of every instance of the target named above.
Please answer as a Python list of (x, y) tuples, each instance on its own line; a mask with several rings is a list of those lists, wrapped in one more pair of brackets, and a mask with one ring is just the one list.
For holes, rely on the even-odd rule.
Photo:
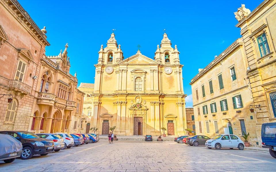
[(175, 45), (175, 48), (172, 48), (171, 45), (172, 43), (170, 42), (168, 35), (164, 33), (160, 48), (159, 45), (157, 45), (154, 60), (158, 61), (160, 64), (180, 64), (177, 45)]

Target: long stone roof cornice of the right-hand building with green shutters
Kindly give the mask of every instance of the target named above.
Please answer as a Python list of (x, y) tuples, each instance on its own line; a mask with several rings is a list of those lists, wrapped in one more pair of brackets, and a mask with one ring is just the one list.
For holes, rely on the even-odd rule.
[(210, 62), (202, 71), (200, 71), (193, 79), (191, 79), (190, 85), (194, 83), (198, 78), (204, 75), (210, 68), (215, 66), (218, 62), (220, 62), (223, 58), (227, 57), (229, 53), (235, 50), (239, 45), (242, 45), (241, 38), (238, 38), (233, 44), (231, 44), (226, 50), (224, 50), (219, 56), (217, 56), (212, 62)]

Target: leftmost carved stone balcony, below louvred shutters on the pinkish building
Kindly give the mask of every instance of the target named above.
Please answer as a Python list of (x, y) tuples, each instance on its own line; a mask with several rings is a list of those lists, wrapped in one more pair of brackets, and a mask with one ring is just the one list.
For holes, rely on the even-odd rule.
[(27, 84), (24, 84), (20, 81), (17, 81), (17, 80), (9, 80), (9, 85), (8, 85), (9, 89), (14, 91), (15, 94), (22, 94), (22, 95), (25, 95), (25, 94), (30, 94), (31, 91), (32, 91), (32, 87), (27, 85)]

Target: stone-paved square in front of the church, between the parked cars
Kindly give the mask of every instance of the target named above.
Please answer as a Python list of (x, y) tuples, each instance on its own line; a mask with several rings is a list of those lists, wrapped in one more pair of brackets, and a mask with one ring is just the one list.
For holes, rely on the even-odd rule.
[(208, 149), (172, 141), (107, 140), (61, 150), (29, 160), (0, 162), (0, 171), (172, 172), (225, 171), (275, 172), (276, 159), (254, 150)]

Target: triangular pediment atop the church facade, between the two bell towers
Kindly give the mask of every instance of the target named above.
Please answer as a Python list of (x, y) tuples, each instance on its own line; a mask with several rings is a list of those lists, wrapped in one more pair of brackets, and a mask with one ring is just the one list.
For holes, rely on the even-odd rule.
[(120, 61), (118, 64), (159, 64), (155, 60), (144, 56), (143, 54), (137, 53), (129, 58)]

